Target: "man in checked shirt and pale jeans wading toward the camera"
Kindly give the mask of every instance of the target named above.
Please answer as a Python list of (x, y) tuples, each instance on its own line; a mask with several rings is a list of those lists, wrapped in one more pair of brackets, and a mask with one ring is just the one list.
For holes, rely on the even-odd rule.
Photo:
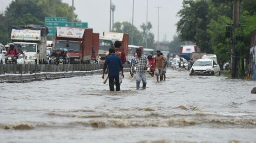
[(149, 62), (145, 55), (141, 55), (141, 49), (137, 49), (136, 53), (137, 56), (135, 56), (133, 59), (130, 73), (131, 76), (133, 77), (134, 67), (136, 67), (136, 89), (140, 89), (141, 80), (142, 89), (145, 89), (147, 84), (146, 70), (149, 67)]

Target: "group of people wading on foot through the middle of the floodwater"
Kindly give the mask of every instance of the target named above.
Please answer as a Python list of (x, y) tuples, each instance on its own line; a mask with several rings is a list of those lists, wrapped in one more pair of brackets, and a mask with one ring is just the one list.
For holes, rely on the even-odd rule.
[[(123, 74), (123, 64), (126, 62), (125, 53), (120, 50), (121, 42), (115, 41), (115, 49), (109, 49), (109, 55), (105, 58), (102, 79), (108, 74), (108, 83), (110, 91), (120, 91), (120, 85)], [(148, 68), (156, 76), (156, 81), (159, 82), (166, 79), (167, 59), (163, 56), (160, 50), (156, 51), (157, 55), (153, 58), (151, 54), (145, 56), (141, 53), (141, 49), (137, 49), (134, 57), (131, 60), (130, 75), (135, 75), (136, 89), (140, 89), (142, 81), (142, 89), (147, 85)], [(114, 89), (115, 85), (115, 89)]]

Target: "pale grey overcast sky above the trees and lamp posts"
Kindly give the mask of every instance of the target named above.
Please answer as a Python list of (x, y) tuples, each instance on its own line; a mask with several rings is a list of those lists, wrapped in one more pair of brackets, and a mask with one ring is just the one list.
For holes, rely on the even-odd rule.
[[(5, 9), (12, 0), (0, 0), (1, 9)], [(72, 0), (62, 0), (72, 5)], [(116, 6), (114, 23), (128, 21), (132, 23), (133, 0), (112, 0)], [(152, 30), (157, 41), (157, 17), (159, 8), (159, 41), (171, 41), (176, 33), (175, 24), (178, 21), (177, 12), (182, 8), (182, 0), (148, 0), (148, 22), (152, 24)], [(74, 0), (74, 11), (81, 22), (88, 22), (88, 27), (94, 32), (103, 34), (109, 31), (110, 0)], [(1, 11), (2, 12), (2, 11)], [(134, 25), (141, 31), (140, 25), (146, 23), (147, 0), (134, 0)], [(111, 21), (112, 22), (112, 21)]]

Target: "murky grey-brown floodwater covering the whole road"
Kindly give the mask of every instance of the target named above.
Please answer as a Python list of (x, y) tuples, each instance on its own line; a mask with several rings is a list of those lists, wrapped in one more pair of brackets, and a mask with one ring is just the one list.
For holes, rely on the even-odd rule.
[[(0, 142), (255, 142), (255, 81), (167, 69), (147, 89), (125, 74), (111, 93), (101, 75), (0, 84)], [(141, 83), (142, 86), (142, 83)]]

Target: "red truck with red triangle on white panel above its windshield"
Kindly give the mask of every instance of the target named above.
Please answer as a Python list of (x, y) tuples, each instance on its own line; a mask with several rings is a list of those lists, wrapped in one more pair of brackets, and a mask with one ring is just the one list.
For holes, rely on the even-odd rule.
[(71, 64), (90, 63), (92, 51), (98, 54), (99, 33), (92, 28), (56, 27), (54, 50), (66, 50)]

